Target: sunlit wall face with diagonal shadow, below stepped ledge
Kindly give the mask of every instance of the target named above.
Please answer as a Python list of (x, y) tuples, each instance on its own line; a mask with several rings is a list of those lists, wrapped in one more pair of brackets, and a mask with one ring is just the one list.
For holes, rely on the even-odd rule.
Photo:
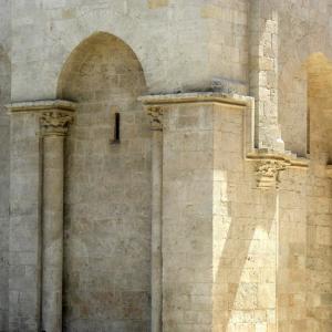
[(214, 114), (214, 329), (274, 331), (279, 194), (245, 162), (243, 108)]

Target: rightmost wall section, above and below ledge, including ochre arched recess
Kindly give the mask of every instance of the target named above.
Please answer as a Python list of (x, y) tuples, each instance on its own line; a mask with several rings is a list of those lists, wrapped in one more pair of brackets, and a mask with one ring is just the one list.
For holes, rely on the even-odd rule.
[(330, 163), (332, 3), (278, 1), (279, 122), (286, 148), (308, 172), (282, 176), (278, 273), (279, 329), (331, 330)]

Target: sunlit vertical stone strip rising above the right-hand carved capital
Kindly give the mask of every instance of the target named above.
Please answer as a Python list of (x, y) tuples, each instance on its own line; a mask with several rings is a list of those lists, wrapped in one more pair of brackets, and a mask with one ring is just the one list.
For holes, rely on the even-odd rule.
[(278, 124), (278, 12), (250, 2), (250, 94), (256, 98), (256, 147), (283, 151)]

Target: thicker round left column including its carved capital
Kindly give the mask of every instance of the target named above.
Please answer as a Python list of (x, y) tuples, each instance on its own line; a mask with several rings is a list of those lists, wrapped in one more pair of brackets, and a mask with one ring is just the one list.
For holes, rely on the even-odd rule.
[(62, 331), (63, 142), (72, 116), (43, 113), (42, 331)]

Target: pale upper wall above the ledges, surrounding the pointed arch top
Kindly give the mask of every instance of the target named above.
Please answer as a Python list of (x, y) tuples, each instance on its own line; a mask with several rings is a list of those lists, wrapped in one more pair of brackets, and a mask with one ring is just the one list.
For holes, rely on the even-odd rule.
[[(247, 1), (13, 1), (13, 100), (55, 96), (73, 49), (97, 31), (124, 40), (151, 92), (203, 91), (212, 77), (246, 90)], [(33, 82), (33, 84), (27, 84)]]

